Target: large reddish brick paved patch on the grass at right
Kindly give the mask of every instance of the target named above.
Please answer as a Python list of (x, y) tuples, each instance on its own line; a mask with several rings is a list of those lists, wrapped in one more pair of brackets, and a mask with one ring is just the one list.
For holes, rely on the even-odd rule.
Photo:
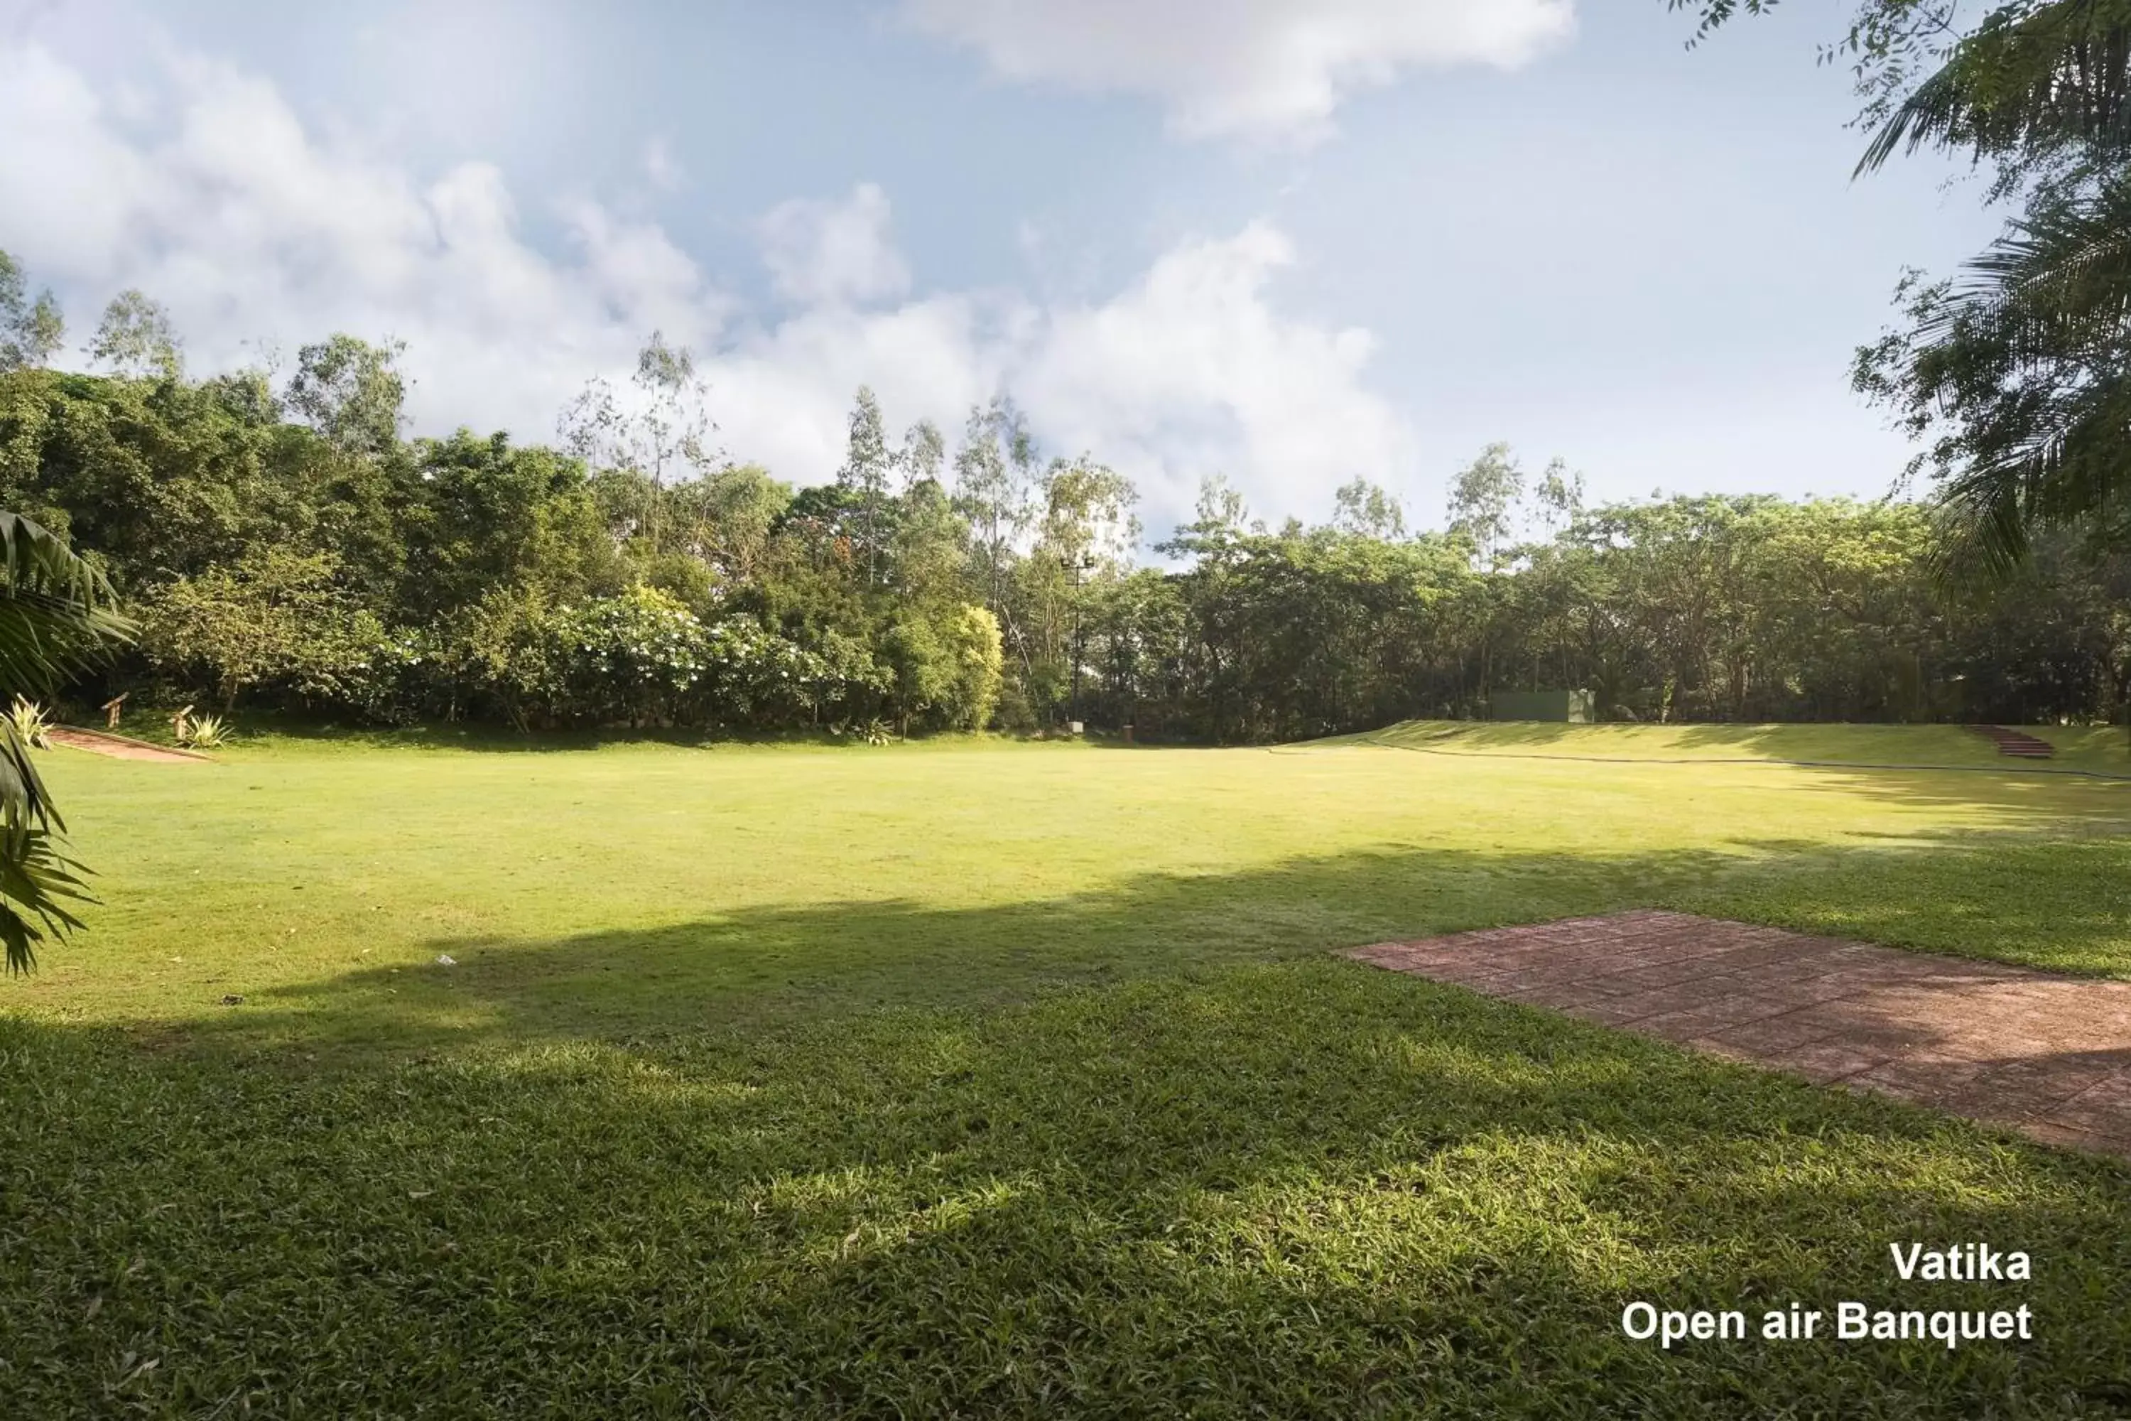
[(1624, 912), (1347, 957), (2131, 1157), (2131, 982)]

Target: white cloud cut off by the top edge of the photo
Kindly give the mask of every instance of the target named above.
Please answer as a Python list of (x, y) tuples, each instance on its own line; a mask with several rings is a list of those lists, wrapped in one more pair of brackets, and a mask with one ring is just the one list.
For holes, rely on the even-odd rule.
[(904, 0), (1004, 77), (1146, 94), (1191, 138), (1308, 141), (1340, 100), (1411, 68), (1532, 60), (1573, 0)]

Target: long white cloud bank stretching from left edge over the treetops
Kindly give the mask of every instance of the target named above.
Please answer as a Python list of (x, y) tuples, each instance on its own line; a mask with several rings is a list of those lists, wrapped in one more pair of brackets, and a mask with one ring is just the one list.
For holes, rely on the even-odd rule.
[(872, 383), (897, 424), (950, 435), (1002, 388), (1061, 454), (1140, 479), (1149, 524), (1227, 473), (1268, 511), (1319, 507), (1364, 473), (1398, 484), (1411, 437), (1362, 383), (1372, 341), (1283, 315), (1268, 285), (1294, 260), (1268, 224), (1187, 241), (1108, 300), (1016, 290), (910, 294), (889, 200), (859, 185), (761, 219), (778, 313), (710, 285), (654, 222), (556, 202), (567, 247), (522, 230), (492, 164), (428, 181), (324, 141), (266, 83), (168, 66), (139, 111), (36, 47), (0, 43), (0, 247), (68, 300), (77, 330), (121, 288), (164, 300), (196, 369), (332, 330), (407, 341), (418, 430), (454, 424), (548, 439), (592, 375), (627, 377), (656, 326), (699, 352), (720, 439), (780, 477), (842, 462), (844, 415)]

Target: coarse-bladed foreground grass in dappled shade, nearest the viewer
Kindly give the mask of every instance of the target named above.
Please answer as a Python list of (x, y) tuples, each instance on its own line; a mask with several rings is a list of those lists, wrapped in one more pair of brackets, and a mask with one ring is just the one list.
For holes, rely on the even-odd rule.
[[(17, 1415), (2131, 1400), (2131, 1174), (1321, 957), (354, 1074), (0, 1046)], [(1905, 1291), (1912, 1240), (2039, 1283)], [(1630, 1342), (1639, 1297), (1756, 1340)], [(2046, 1323), (1758, 1340), (1843, 1297)]]

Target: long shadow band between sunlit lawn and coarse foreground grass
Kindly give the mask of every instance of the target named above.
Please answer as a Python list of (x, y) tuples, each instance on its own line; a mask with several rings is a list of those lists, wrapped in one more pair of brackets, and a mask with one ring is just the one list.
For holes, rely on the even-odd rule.
[(454, 965), (245, 991), (196, 1048), (328, 1059), (484, 1042), (757, 1031), (882, 1008), (989, 1010), (1070, 989), (1291, 961), (1396, 937), (1677, 908), (1890, 946), (2131, 976), (2131, 839), (1975, 835), (1828, 850), (1370, 850), (1245, 873), (1149, 873), (985, 908), (761, 905), (569, 937), (437, 937)]

